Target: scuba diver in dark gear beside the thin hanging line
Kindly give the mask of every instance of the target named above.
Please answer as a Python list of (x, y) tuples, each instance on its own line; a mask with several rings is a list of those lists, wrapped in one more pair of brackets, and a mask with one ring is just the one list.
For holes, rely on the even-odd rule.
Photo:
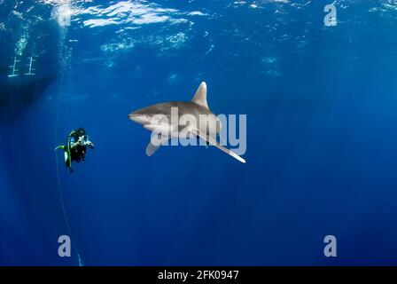
[(72, 162), (85, 162), (87, 147), (94, 149), (94, 144), (85, 134), (85, 130), (80, 127), (70, 132), (66, 139), (66, 145), (60, 145), (54, 150), (62, 149), (64, 151), (66, 169), (72, 172)]

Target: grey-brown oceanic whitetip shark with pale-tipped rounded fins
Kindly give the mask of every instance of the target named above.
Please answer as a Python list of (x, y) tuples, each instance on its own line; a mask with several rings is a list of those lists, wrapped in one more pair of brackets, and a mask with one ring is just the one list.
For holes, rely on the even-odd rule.
[[(183, 116), (187, 119), (182, 119)], [(205, 140), (208, 145), (216, 146), (230, 154), (239, 162), (245, 162), (242, 157), (216, 140), (216, 135), (219, 134), (222, 126), (206, 102), (205, 82), (200, 83), (191, 101), (174, 101), (147, 106), (132, 112), (128, 117), (131, 121), (156, 134), (152, 135), (151, 142), (146, 147), (148, 156), (154, 154), (170, 138), (186, 138), (194, 135)], [(206, 117), (204, 123), (202, 117)]]

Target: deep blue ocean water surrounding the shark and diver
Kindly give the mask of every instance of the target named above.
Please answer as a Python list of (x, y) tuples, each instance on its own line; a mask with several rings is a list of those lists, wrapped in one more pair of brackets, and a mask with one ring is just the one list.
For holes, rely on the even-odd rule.
[[(396, 25), (395, 0), (0, 1), (0, 264), (397, 264)], [(147, 157), (128, 114), (202, 81), (247, 115), (247, 162)], [(53, 148), (80, 126), (70, 174)]]

